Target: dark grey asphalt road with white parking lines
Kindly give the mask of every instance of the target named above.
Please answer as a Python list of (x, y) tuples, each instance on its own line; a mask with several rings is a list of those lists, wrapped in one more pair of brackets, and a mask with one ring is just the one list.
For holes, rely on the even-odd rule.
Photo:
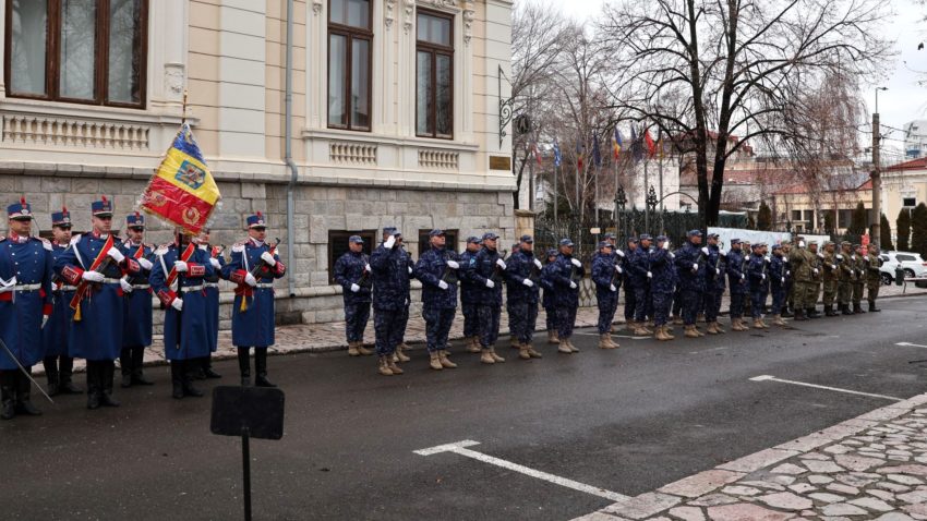
[[(611, 500), (457, 453), (413, 450), (460, 440), (486, 455), (624, 495), (891, 403), (758, 375), (908, 398), (927, 391), (927, 299), (883, 312), (797, 323), (788, 330), (698, 340), (618, 338), (595, 349), (579, 330), (575, 355), (482, 366), (460, 348), (455, 371), (413, 352), (398, 377), (344, 353), (270, 360), (287, 392), (286, 434), (253, 440), (255, 519), (563, 520)], [(681, 328), (677, 328), (677, 332)], [(538, 336), (542, 343), (542, 336)], [(514, 354), (507, 347), (503, 355)], [(217, 364), (219, 384), (237, 380)], [(118, 389), (119, 409), (84, 397), (41, 404), (45, 415), (0, 423), (0, 505), (9, 519), (240, 519), (238, 438), (209, 434), (210, 400), (172, 400), (155, 387)], [(36, 400), (36, 403), (39, 403)]]

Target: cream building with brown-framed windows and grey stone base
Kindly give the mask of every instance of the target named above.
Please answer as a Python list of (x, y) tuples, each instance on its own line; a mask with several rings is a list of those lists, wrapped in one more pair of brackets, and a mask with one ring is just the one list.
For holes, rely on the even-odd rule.
[(484, 230), (511, 242), (497, 77), (510, 69), (511, 0), (293, 1), (289, 222), (287, 4), (3, 0), (0, 196), (25, 194), (43, 230), (61, 206), (86, 230), (100, 194), (133, 211), (186, 90), (224, 197), (213, 239), (230, 245), (261, 210), (272, 238), (293, 241), (281, 322), (339, 318), (332, 265), (350, 234), (370, 246), (397, 226), (413, 256), (433, 227), (453, 246)]

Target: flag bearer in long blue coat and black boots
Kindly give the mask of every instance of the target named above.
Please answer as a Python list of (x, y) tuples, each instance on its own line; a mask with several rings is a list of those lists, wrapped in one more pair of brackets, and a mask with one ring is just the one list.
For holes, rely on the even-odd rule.
[[(209, 253), (191, 239), (178, 230), (173, 243), (159, 247), (149, 278), (165, 306), (165, 358), (170, 361), (171, 389), (178, 400), (203, 396), (192, 380), (213, 344), (206, 278), (215, 275), (215, 267)], [(174, 283), (169, 282), (171, 274)]]

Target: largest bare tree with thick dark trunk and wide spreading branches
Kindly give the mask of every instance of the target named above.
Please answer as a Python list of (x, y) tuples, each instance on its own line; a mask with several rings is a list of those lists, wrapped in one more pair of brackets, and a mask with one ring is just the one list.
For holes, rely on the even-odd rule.
[(600, 27), (621, 60), (614, 105), (687, 136), (699, 214), (714, 226), (732, 154), (748, 140), (795, 135), (783, 111), (809, 82), (881, 69), (889, 43), (875, 35), (884, 9), (880, 0), (615, 0)]

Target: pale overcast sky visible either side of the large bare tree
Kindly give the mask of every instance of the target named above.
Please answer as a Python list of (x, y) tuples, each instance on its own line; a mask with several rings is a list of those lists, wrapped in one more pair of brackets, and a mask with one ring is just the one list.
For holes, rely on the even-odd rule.
[[(580, 21), (594, 20), (601, 13), (602, 4), (609, 0), (522, 0), (532, 3), (544, 3), (551, 7), (569, 5), (564, 9), (570, 16)], [(646, 1), (646, 0), (641, 0)], [(875, 87), (886, 86), (889, 89), (879, 93), (879, 118), (881, 123), (895, 129), (915, 120), (927, 120), (927, 48), (917, 50), (917, 44), (927, 43), (927, 7), (915, 5), (913, 0), (889, 0), (895, 12), (891, 24), (886, 24), (886, 34), (896, 40), (900, 52), (894, 65), (883, 78), (870, 78), (864, 85), (864, 96), (869, 111), (875, 111)], [(918, 75), (913, 71), (925, 71)], [(917, 85), (919, 77), (925, 78), (925, 85)], [(900, 157), (904, 135), (900, 131), (883, 130), (883, 145), (896, 152), (887, 150), (883, 163), (896, 162)], [(894, 157), (892, 157), (894, 156)]]

